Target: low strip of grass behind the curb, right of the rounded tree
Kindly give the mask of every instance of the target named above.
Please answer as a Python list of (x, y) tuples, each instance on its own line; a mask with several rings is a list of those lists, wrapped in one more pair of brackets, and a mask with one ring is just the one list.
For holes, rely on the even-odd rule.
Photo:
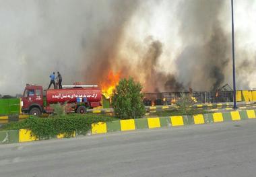
[(148, 116), (182, 116), (182, 115), (195, 115), (195, 114), (207, 114), (207, 113), (212, 113), (212, 111), (199, 110), (199, 109), (195, 108), (195, 109), (189, 109), (185, 113), (181, 109), (171, 109), (171, 110), (150, 112), (150, 115), (148, 115)]

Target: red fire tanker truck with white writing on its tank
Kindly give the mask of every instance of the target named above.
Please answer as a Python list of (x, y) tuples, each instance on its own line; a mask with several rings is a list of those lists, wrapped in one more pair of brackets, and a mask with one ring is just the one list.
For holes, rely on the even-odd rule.
[(63, 85), (63, 89), (43, 90), (27, 84), (22, 97), (22, 112), (34, 116), (53, 113), (51, 104), (66, 103), (66, 112), (86, 113), (87, 108), (101, 106), (102, 92), (97, 85)]

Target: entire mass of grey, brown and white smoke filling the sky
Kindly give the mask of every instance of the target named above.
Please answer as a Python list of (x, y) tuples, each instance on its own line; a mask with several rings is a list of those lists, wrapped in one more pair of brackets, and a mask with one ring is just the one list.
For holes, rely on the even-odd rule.
[[(232, 84), (228, 0), (0, 4), (0, 94), (21, 93), (26, 83), (47, 87), (53, 71), (64, 84), (99, 84), (109, 71), (120, 72), (146, 92)], [(238, 89), (256, 87), (250, 78), (256, 77), (256, 36), (249, 26), (256, 24), (255, 11), (253, 0), (235, 3)]]

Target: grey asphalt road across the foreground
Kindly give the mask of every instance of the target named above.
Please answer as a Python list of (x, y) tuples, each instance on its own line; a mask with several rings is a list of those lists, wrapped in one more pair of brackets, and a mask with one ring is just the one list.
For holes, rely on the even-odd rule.
[(256, 120), (0, 145), (0, 176), (256, 176)]

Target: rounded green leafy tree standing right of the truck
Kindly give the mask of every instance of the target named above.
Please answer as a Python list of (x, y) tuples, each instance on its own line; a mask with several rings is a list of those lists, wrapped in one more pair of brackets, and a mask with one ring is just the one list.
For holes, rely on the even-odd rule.
[(141, 118), (145, 114), (141, 89), (140, 83), (136, 83), (131, 77), (119, 81), (112, 97), (112, 106), (117, 118)]

